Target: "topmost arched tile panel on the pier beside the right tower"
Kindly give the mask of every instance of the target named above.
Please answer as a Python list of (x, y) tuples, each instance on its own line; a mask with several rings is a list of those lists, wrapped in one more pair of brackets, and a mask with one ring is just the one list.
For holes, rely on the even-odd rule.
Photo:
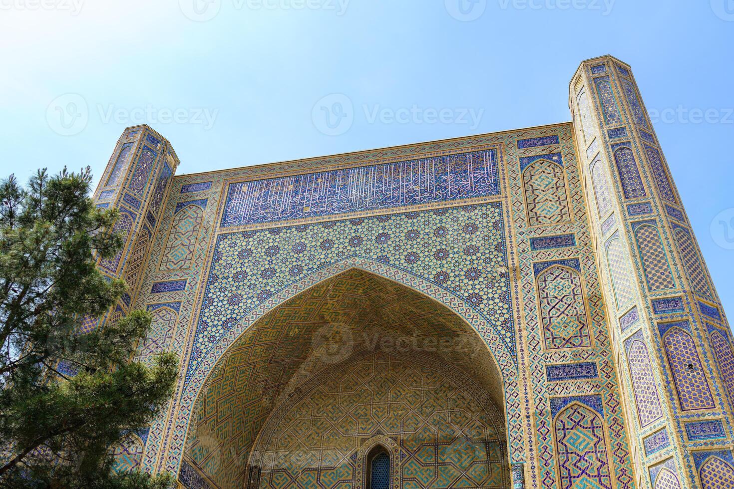
[(523, 183), (531, 226), (570, 219), (562, 166), (548, 160), (536, 161), (523, 171)]

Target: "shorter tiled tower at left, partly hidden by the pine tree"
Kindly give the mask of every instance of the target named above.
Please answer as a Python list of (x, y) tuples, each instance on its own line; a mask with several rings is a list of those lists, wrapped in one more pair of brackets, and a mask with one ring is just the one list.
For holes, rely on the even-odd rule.
[[(127, 128), (117, 140), (94, 200), (97, 207), (120, 211), (115, 232), (122, 233), (124, 244), (115, 257), (99, 260), (98, 267), (110, 278), (125, 279), (130, 292), (103, 317), (103, 322), (125, 317), (134, 302), (178, 163), (170, 142), (147, 125)], [(85, 321), (84, 331), (97, 326), (98, 321), (90, 319)]]

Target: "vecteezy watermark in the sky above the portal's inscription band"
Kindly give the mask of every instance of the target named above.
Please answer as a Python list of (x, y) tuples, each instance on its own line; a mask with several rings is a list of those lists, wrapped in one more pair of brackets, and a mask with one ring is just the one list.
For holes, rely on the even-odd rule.
[(352, 100), (344, 94), (332, 94), (321, 98), (313, 106), (311, 120), (321, 133), (340, 136), (346, 133), (361, 115), (368, 124), (459, 124), (468, 125), (470, 130), (479, 127), (484, 109), (470, 107), (435, 108), (417, 104), (406, 107), (384, 107), (379, 103), (363, 103), (361, 111), (355, 111)]

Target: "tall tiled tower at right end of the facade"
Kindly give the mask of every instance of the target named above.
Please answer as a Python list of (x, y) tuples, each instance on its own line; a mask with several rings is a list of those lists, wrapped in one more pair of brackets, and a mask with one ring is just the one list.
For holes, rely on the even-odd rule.
[(569, 104), (639, 487), (721, 487), (732, 335), (631, 68), (581, 63)]

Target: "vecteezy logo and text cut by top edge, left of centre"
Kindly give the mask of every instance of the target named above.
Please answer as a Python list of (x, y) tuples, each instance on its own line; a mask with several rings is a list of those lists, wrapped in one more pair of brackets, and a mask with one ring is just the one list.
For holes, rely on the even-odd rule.
[[(2, 1), (2, 0), (0, 0)], [(350, 0), (228, 0), (233, 10), (325, 10), (344, 15)], [(178, 0), (183, 15), (192, 21), (211, 21), (222, 9), (222, 0)]]

